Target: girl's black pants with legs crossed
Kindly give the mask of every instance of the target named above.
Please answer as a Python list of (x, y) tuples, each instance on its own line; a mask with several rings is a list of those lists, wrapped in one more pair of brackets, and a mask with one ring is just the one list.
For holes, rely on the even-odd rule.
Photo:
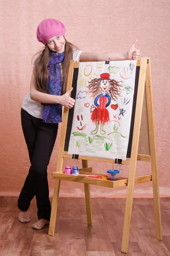
[(47, 166), (57, 137), (58, 124), (42, 122), (21, 109), (23, 134), (28, 147), (31, 166), (18, 199), (18, 208), (27, 211), (34, 196), (37, 199), (38, 219), (50, 220), (51, 204)]

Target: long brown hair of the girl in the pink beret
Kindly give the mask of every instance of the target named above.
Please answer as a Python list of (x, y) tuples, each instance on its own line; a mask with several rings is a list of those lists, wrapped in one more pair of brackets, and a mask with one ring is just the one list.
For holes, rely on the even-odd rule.
[[(64, 37), (65, 38), (65, 37)], [(70, 65), (70, 61), (73, 59), (73, 49), (78, 49), (74, 44), (69, 43), (65, 39), (65, 57), (62, 62), (62, 94), (66, 91), (67, 86), (67, 78), (68, 78), (68, 69)], [(48, 48), (48, 45), (45, 45), (45, 48), (36, 53), (34, 57), (37, 58), (34, 61), (34, 67), (35, 67), (35, 80), (36, 84), (35, 87), (37, 90), (39, 90), (42, 93), (47, 93), (46, 89), (46, 82), (48, 79), (48, 61), (51, 58), (53, 51), (51, 51)]]

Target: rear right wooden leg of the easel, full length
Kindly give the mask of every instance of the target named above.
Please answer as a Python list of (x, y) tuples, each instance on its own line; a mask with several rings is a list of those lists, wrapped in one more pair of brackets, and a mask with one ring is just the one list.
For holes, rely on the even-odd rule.
[(157, 168), (157, 157), (156, 157), (156, 138), (155, 138), (154, 115), (153, 115), (153, 97), (152, 97), (150, 59), (148, 59), (147, 61), (145, 88), (146, 88), (146, 99), (147, 99), (147, 120), (148, 120), (148, 129), (149, 129), (150, 159), (151, 159), (151, 168), (152, 168), (153, 200), (154, 200), (155, 222), (156, 222), (156, 239), (162, 240), (161, 207), (160, 207), (160, 199), (159, 199), (159, 183), (158, 183), (158, 168)]

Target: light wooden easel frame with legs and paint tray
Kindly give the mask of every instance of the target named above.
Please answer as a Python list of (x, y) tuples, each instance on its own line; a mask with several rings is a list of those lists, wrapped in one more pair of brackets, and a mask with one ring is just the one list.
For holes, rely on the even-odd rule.
[[(155, 221), (156, 221), (156, 239), (162, 240), (150, 59), (142, 58), (141, 61), (137, 61), (136, 67), (140, 67), (140, 72), (139, 72), (139, 82), (138, 82), (138, 91), (137, 91), (137, 99), (136, 99), (135, 119), (134, 119), (134, 126), (133, 126), (131, 156), (130, 158), (127, 158), (126, 161), (122, 161), (122, 164), (130, 164), (128, 178), (119, 177), (119, 180), (117, 181), (98, 180), (91, 177), (67, 175), (67, 174), (64, 174), (64, 172), (62, 172), (63, 158), (64, 157), (72, 158), (71, 155), (68, 155), (68, 153), (64, 151), (66, 127), (67, 127), (67, 121), (68, 121), (68, 108), (64, 108), (61, 138), (60, 138), (60, 144), (59, 144), (59, 154), (58, 154), (58, 161), (57, 161), (57, 171), (54, 172), (52, 175), (53, 179), (55, 179), (55, 184), (54, 184), (54, 196), (53, 196), (53, 202), (52, 202), (50, 227), (49, 227), (49, 233), (48, 233), (49, 235), (54, 236), (60, 180), (69, 180), (69, 181), (84, 183), (88, 225), (92, 225), (90, 184), (111, 187), (111, 188), (127, 186), (127, 199), (126, 199), (126, 207), (125, 207), (125, 219), (124, 219), (122, 248), (121, 248), (122, 252), (127, 253), (128, 243), (129, 243), (129, 234), (130, 234), (130, 221), (131, 221), (131, 213), (132, 213), (134, 185), (138, 183), (152, 181)], [(76, 68), (79, 68), (79, 63), (76, 61), (71, 61), (69, 73), (68, 73), (67, 91), (72, 86), (74, 69)], [(145, 96), (146, 96), (146, 107), (147, 107), (146, 116), (147, 116), (147, 123), (148, 123), (149, 153), (143, 155), (143, 154), (139, 154), (139, 151), (140, 151), (139, 135), (140, 135), (140, 129), (142, 127), (141, 126), (142, 108), (143, 108), (143, 100)], [(82, 159), (82, 169), (81, 169), (82, 172), (80, 172), (82, 174), (89, 174), (89, 172), (92, 172), (92, 169), (88, 168), (88, 160), (110, 162), (110, 163), (113, 162), (112, 160), (101, 159), (101, 158), (99, 159), (99, 158), (93, 158), (93, 157), (79, 156), (79, 159)], [(152, 174), (141, 176), (141, 177), (135, 177), (137, 160), (151, 162)], [(96, 173), (94, 173), (94, 175), (96, 175)], [(100, 174), (100, 176), (102, 175)]]

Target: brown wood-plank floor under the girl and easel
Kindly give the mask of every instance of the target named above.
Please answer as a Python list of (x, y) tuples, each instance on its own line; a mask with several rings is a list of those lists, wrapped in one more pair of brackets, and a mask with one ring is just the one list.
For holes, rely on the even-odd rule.
[(0, 197), (0, 256), (170, 256), (170, 198), (161, 198), (163, 241), (156, 240), (153, 199), (134, 198), (128, 253), (121, 253), (125, 199), (92, 198), (93, 226), (87, 225), (85, 198), (59, 198), (55, 236), (48, 226), (33, 230), (18, 221), (17, 197)]

